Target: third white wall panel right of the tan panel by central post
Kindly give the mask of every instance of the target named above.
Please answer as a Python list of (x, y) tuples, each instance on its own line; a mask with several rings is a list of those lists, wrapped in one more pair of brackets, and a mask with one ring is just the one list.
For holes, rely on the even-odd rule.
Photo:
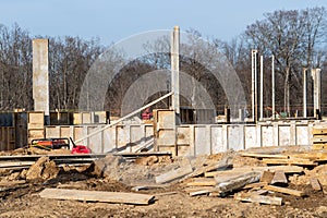
[(228, 126), (228, 148), (233, 150), (244, 149), (243, 125)]

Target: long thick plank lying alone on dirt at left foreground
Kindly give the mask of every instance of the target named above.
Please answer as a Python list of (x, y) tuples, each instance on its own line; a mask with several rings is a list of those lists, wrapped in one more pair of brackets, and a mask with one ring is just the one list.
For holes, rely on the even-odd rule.
[(65, 189), (45, 189), (39, 193), (39, 195), (43, 198), (52, 199), (76, 199), (86, 202), (106, 202), (135, 205), (148, 205), (155, 197), (154, 195), (147, 194)]

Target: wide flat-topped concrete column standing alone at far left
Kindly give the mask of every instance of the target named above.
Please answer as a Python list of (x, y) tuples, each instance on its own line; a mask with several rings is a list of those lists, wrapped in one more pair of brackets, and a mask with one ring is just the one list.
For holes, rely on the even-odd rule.
[(45, 112), (49, 124), (49, 58), (48, 39), (33, 40), (33, 99), (34, 110)]

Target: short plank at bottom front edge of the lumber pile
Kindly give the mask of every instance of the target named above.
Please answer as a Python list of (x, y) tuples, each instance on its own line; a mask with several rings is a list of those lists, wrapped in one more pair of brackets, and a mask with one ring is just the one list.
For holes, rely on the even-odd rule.
[(269, 205), (281, 205), (281, 197), (263, 196), (255, 193), (237, 193), (234, 198), (242, 202), (261, 203)]

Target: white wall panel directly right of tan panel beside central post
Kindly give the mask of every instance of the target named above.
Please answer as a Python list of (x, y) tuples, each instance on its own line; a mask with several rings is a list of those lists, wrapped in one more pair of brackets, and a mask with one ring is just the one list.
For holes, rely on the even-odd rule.
[(211, 154), (210, 147), (210, 133), (205, 125), (195, 126), (194, 129), (194, 150), (195, 155), (206, 155)]

